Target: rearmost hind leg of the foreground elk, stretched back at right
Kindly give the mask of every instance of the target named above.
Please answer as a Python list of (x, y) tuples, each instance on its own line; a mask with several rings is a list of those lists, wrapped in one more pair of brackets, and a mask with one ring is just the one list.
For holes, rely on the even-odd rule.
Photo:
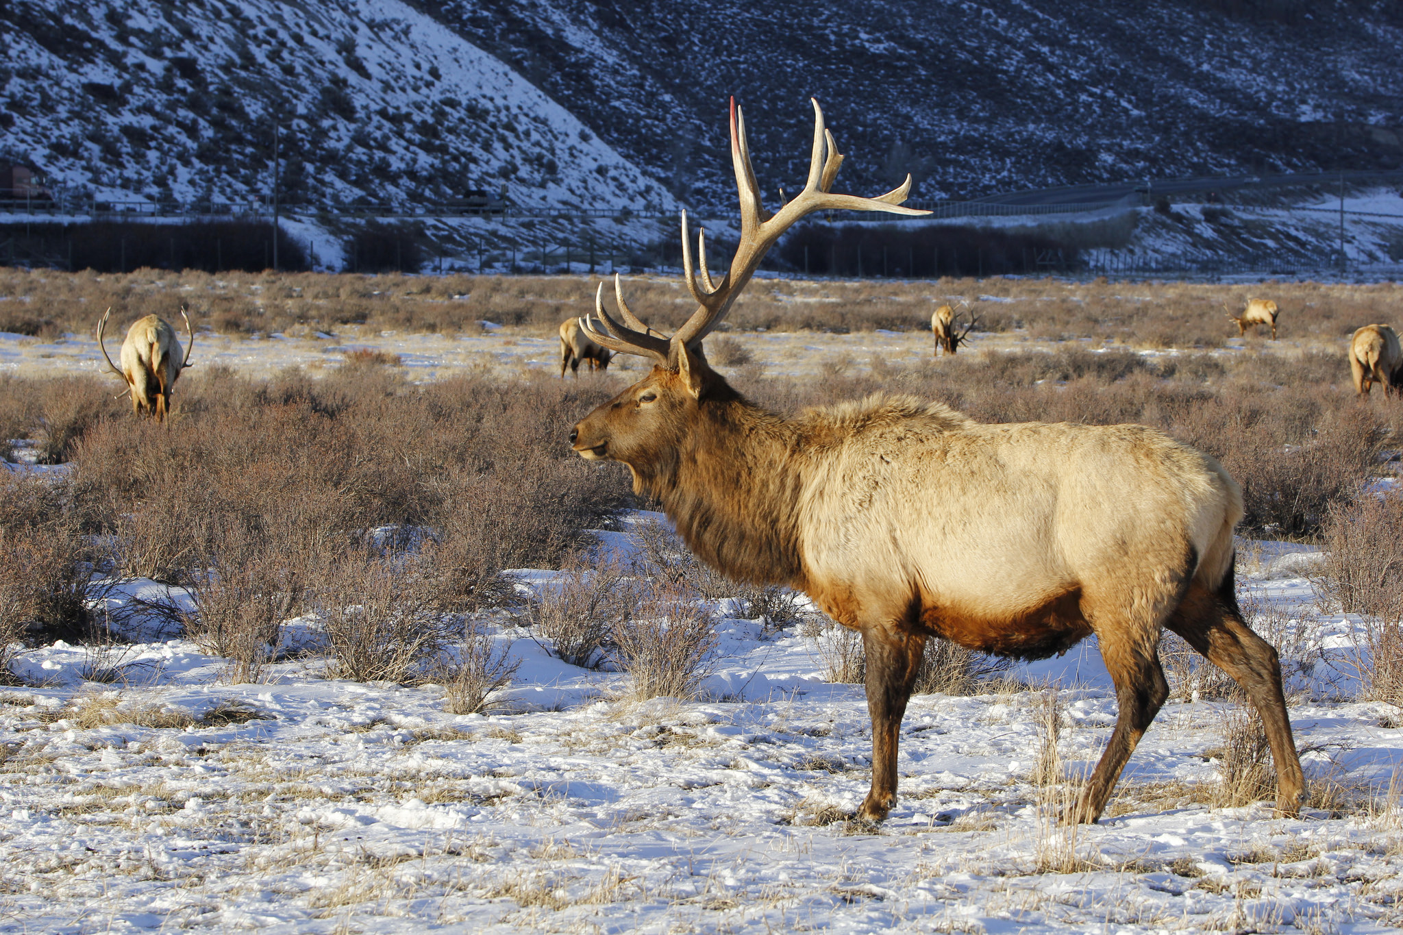
[(1198, 585), (1190, 587), (1164, 625), (1247, 692), (1271, 743), (1271, 760), (1277, 767), (1277, 812), (1288, 817), (1296, 814), (1306, 781), (1291, 736), (1287, 697), (1281, 690), (1281, 660), (1271, 643), (1242, 621), (1233, 576), (1228, 576), (1216, 594)]

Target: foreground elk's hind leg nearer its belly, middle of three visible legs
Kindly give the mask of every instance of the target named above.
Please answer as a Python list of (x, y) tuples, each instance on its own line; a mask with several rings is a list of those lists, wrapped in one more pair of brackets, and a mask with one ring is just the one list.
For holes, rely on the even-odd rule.
[(1068, 823), (1094, 823), (1101, 817), (1106, 802), (1111, 798), (1115, 781), (1121, 778), (1125, 761), (1131, 758), (1139, 739), (1149, 730), (1164, 699), (1169, 698), (1169, 683), (1159, 666), (1159, 627), (1152, 639), (1132, 639), (1125, 629), (1097, 631), (1101, 643), (1101, 657), (1115, 683), (1115, 701), (1120, 712), (1115, 716), (1115, 730), (1106, 744), (1100, 763), (1082, 791), (1082, 799), (1072, 814), (1063, 816)]

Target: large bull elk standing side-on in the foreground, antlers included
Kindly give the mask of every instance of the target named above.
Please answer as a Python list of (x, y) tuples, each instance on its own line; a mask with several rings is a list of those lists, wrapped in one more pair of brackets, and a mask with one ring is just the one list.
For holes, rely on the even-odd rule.
[[(682, 264), (697, 310), (671, 336), (648, 334), (595, 294), (581, 325), (651, 373), (570, 433), (589, 460), (622, 461), (697, 557), (737, 579), (807, 592), (867, 653), (871, 789), (859, 814), (881, 820), (897, 793), (901, 719), (926, 641), (1020, 659), (1062, 653), (1094, 634), (1120, 715), (1068, 821), (1094, 821), (1169, 687), (1167, 627), (1226, 670), (1267, 728), (1277, 807), (1303, 791), (1275, 650), (1243, 622), (1233, 589), (1242, 491), (1207, 454), (1138, 425), (981, 425), (936, 402), (877, 394), (786, 418), (741, 397), (707, 364), (703, 339), (780, 234), (817, 210), (899, 207), (911, 178), (878, 198), (833, 195), (842, 156), (814, 104), (804, 191), (770, 214), (731, 101), (741, 237), (714, 283), (686, 213)], [(617, 283), (616, 283), (617, 289)]]

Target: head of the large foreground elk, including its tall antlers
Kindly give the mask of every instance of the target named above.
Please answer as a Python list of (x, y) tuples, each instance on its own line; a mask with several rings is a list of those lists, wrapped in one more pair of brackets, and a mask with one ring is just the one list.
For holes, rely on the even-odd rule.
[[(796, 221), (818, 210), (880, 210), (894, 214), (929, 214), (902, 207), (911, 191), (911, 175), (898, 188), (877, 198), (832, 193), (833, 179), (843, 164), (833, 135), (824, 125), (824, 111), (814, 101), (814, 146), (804, 191), (770, 213), (760, 202), (760, 188), (751, 167), (745, 139), (745, 116), (731, 98), (731, 164), (741, 202), (741, 240), (731, 265), (717, 283), (706, 262), (706, 231), (697, 234), (693, 262), (687, 214), (682, 212), (682, 268), (687, 290), (697, 303), (692, 317), (665, 338), (645, 325), (623, 299), (615, 276), (619, 318), (605, 310), (603, 283), (595, 293), (595, 314), (579, 320), (593, 341), (617, 353), (654, 360), (652, 371), (617, 397), (581, 419), (570, 442), (582, 457), (623, 461), (634, 475), (634, 489), (655, 488), (669, 474), (699, 425), (709, 404), (724, 404), (738, 395), (706, 362), (702, 342), (731, 311), (741, 290), (759, 268), (765, 254)], [(700, 266), (700, 269), (697, 269)], [(700, 273), (700, 275), (699, 275)]]

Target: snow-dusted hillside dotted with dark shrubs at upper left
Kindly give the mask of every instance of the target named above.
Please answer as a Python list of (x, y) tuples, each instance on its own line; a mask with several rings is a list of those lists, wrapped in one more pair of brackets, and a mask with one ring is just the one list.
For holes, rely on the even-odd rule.
[(100, 199), (671, 206), (512, 69), (394, 0), (0, 6), (0, 157)]

